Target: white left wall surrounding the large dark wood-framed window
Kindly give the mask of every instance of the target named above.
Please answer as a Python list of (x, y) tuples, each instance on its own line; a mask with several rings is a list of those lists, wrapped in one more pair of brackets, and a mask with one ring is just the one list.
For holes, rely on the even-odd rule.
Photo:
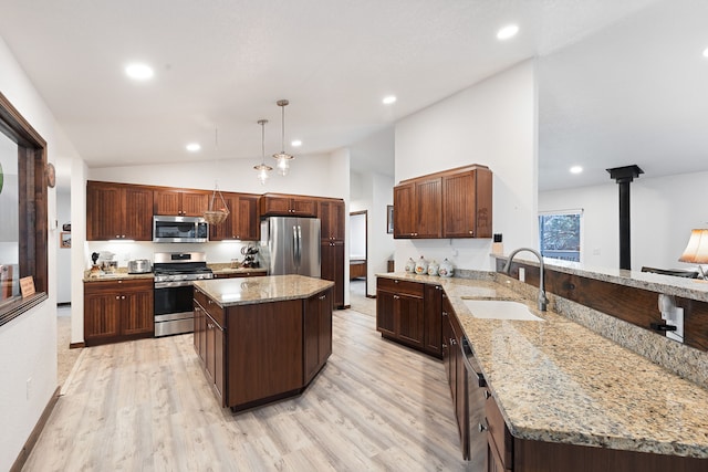
[[(0, 92), (46, 140), (48, 159), (53, 162), (54, 117), (1, 38), (0, 71)], [(49, 189), (50, 222), (55, 214), (55, 191)], [(58, 238), (58, 231), (50, 229), (49, 301), (0, 327), (0, 470), (10, 469), (56, 389)]]

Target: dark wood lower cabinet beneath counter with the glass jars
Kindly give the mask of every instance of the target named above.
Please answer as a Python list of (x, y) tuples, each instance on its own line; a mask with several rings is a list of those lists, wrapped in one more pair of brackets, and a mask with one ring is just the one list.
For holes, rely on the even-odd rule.
[(438, 285), (379, 277), (376, 281), (376, 329), (392, 340), (441, 357)]

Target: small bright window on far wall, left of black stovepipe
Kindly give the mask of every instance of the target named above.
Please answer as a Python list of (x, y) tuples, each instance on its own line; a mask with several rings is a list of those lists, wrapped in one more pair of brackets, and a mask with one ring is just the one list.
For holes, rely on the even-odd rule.
[(539, 216), (541, 254), (564, 261), (581, 260), (583, 210), (544, 212)]

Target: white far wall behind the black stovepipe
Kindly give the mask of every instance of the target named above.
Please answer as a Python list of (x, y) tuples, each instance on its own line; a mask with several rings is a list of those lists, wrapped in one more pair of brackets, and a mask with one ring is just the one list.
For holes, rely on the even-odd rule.
[[(708, 228), (708, 209), (693, 204), (708, 172), (652, 178), (642, 175), (629, 187), (632, 269), (691, 269), (678, 262), (690, 230)], [(583, 262), (587, 266), (620, 266), (620, 203), (617, 185), (546, 191), (540, 211), (584, 209)]]

